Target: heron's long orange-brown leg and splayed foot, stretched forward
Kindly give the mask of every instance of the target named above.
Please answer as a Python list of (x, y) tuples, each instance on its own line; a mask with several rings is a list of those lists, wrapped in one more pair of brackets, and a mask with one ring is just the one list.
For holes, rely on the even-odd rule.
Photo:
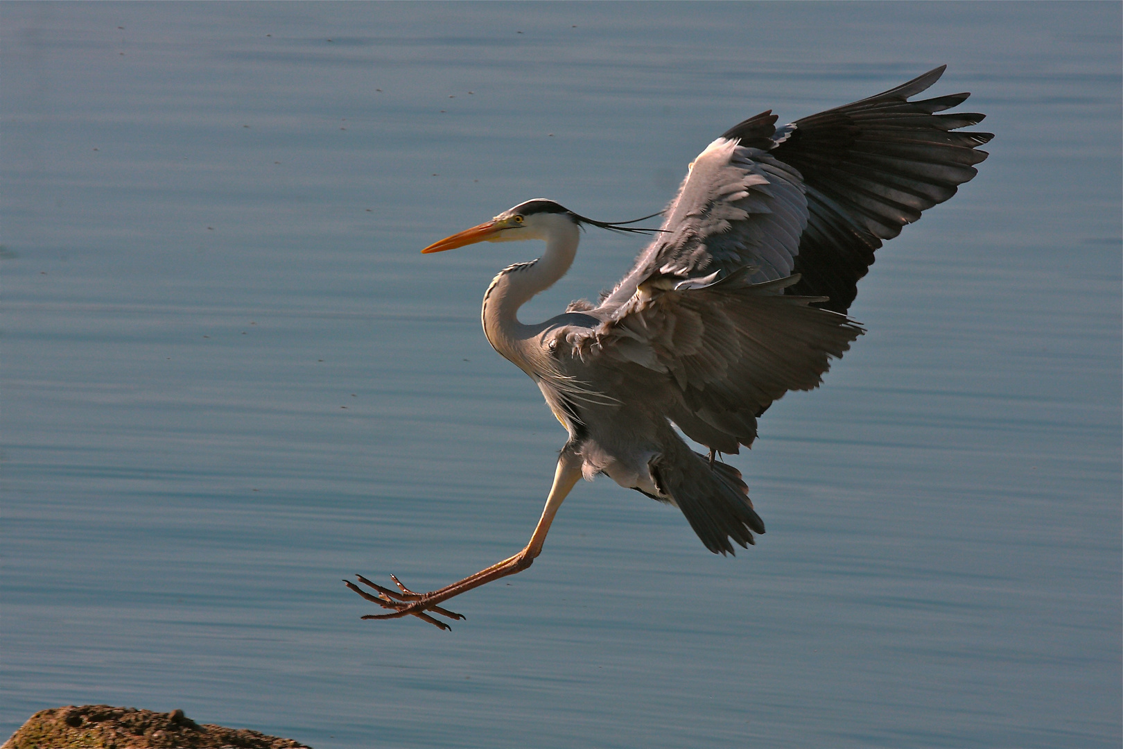
[(565, 500), (566, 495), (569, 494), (569, 491), (573, 490), (574, 484), (576, 484), (579, 478), (581, 458), (568, 451), (564, 451), (558, 458), (557, 471), (554, 473), (554, 485), (550, 487), (549, 496), (546, 497), (546, 506), (542, 508), (542, 517), (539, 519), (538, 526), (535, 527), (535, 532), (531, 535), (530, 541), (514, 556), (508, 557), (502, 561), (497, 561), (491, 567), (481, 569), (475, 575), (468, 575), (464, 579), (457, 581), (451, 585), (446, 585), (438, 591), (423, 594), (414, 593), (409, 590), (402, 585), (396, 577), (393, 577), (393, 575), (391, 575), (391, 577), (393, 577), (394, 583), (398, 585), (398, 591), (392, 591), (391, 588), (376, 585), (362, 575), (356, 575), (360, 583), (376, 590), (378, 592), (378, 596), (366, 593), (350, 581), (345, 579), (344, 584), (367, 601), (373, 601), (383, 609), (394, 610), (393, 613), (389, 614), (367, 614), (366, 616), (363, 616), (363, 619), (398, 619), (400, 616), (413, 615), (441, 629), (449, 629), (448, 624), (433, 619), (427, 614), (426, 611), (432, 611), (433, 613), (438, 613), (450, 619), (464, 619), (460, 614), (453, 613), (451, 611), (442, 609), (437, 604), (442, 601), (448, 601), (453, 596), (459, 595), (460, 593), (471, 591), (474, 587), (480, 587), (481, 585), (485, 585), (501, 577), (520, 573), (529, 567), (535, 561), (535, 558), (542, 552), (542, 545), (546, 544), (546, 533), (550, 530), (550, 523), (554, 522), (554, 515), (557, 514), (558, 508), (562, 506), (562, 502)]

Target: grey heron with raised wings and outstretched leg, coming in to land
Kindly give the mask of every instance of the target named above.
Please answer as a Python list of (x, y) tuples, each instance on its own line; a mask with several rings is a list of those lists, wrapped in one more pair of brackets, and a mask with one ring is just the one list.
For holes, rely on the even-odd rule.
[[(938, 115), (970, 94), (909, 101), (937, 67), (895, 89), (782, 127), (765, 111), (733, 126), (691, 163), (658, 229), (597, 221), (553, 200), (519, 203), (429, 245), (546, 243), (484, 293), (484, 334), (527, 373), (568, 432), (530, 541), (518, 554), (430, 593), (362, 575), (390, 613), (363, 619), (464, 619), (440, 604), (529, 567), (579, 478), (604, 474), (673, 504), (715, 554), (754, 544), (765, 524), (722, 454), (749, 447), (757, 419), (792, 390), (812, 390), (862, 328), (847, 317), (883, 240), (956, 194), (987, 157), (983, 115)], [(631, 271), (599, 303), (573, 302), (537, 325), (518, 311), (566, 274), (584, 227), (649, 232)], [(677, 427), (677, 431), (676, 428)], [(709, 448), (695, 453), (681, 431)]]

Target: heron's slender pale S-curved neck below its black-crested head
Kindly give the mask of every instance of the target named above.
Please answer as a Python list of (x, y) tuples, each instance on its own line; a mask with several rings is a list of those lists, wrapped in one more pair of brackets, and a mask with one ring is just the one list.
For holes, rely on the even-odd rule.
[(577, 255), (581, 231), (577, 225), (562, 214), (553, 214), (537, 236), (527, 239), (546, 239), (546, 252), (537, 261), (517, 263), (500, 271), (487, 291), (480, 312), (484, 335), (504, 358), (515, 364), (527, 374), (535, 376), (532, 360), (538, 351), (530, 339), (542, 326), (526, 326), (519, 322), (519, 308), (535, 294), (553, 286), (573, 265)]

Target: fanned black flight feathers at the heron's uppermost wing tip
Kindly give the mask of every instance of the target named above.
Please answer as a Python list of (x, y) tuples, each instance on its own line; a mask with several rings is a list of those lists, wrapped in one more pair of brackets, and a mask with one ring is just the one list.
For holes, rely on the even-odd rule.
[(990, 133), (955, 133), (984, 118), (937, 115), (970, 95), (909, 101), (939, 80), (946, 66), (884, 93), (794, 122), (772, 154), (797, 168), (806, 189), (807, 227), (789, 293), (829, 296), (823, 307), (846, 312), (858, 280), (885, 239), (921, 212), (956, 194), (987, 153)]

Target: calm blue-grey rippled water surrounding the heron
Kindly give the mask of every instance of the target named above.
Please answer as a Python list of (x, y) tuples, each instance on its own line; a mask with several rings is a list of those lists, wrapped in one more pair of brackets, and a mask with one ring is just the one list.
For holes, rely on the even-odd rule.
[[(1121, 6), (0, 4), (0, 733), (71, 703), (339, 747), (1119, 747)], [(545, 195), (661, 208), (743, 117), (938, 64), (997, 134), (761, 421), (768, 535), (600, 479), (484, 340)], [(523, 319), (640, 243), (586, 235)]]

